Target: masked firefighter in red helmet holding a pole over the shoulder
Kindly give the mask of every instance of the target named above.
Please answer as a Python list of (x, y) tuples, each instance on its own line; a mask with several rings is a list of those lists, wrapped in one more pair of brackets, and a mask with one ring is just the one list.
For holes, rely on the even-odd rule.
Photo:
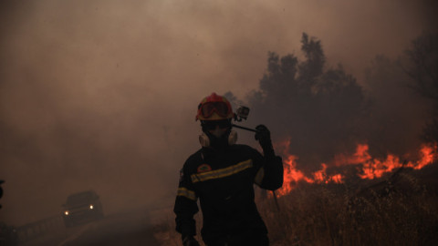
[(215, 93), (204, 97), (196, 120), (201, 121), (202, 148), (187, 159), (180, 171), (180, 182), (173, 211), (176, 231), (183, 245), (199, 245), (193, 215), (203, 211), (201, 235), (208, 246), (269, 245), (267, 230), (255, 206), (254, 183), (266, 190), (283, 184), (283, 163), (275, 155), (269, 130), (259, 125), (255, 139), (264, 155), (235, 144), (232, 130), (235, 117), (225, 97)]

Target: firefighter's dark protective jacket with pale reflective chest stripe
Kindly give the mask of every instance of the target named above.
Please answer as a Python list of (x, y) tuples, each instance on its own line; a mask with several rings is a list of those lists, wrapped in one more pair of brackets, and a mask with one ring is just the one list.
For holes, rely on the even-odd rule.
[(246, 145), (224, 150), (203, 148), (186, 160), (180, 173), (173, 211), (176, 231), (195, 235), (193, 215), (199, 198), (203, 210), (203, 241), (212, 241), (239, 231), (267, 233), (255, 207), (254, 183), (266, 190), (283, 184), (280, 157), (265, 158)]

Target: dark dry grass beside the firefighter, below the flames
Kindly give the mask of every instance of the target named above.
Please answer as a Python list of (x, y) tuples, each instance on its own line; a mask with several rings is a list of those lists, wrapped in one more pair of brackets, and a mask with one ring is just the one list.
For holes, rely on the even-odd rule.
[[(438, 245), (436, 189), (401, 173), (360, 190), (302, 184), (278, 199), (280, 210), (272, 196), (257, 200), (257, 206), (275, 246)], [(157, 226), (157, 239), (162, 245), (181, 245), (170, 218)], [(201, 226), (200, 216), (197, 220)]]

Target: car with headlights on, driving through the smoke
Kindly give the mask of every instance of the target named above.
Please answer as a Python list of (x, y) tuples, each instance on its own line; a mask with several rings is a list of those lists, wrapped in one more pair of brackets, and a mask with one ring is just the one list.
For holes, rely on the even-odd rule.
[(68, 196), (62, 218), (66, 227), (72, 227), (104, 217), (102, 204), (94, 190), (82, 191)]

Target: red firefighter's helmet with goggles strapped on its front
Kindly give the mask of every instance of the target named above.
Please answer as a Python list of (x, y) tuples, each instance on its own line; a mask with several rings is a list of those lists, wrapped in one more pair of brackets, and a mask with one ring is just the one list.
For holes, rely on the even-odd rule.
[(212, 93), (204, 97), (199, 104), (196, 120), (220, 120), (234, 117), (230, 102), (225, 97)]

